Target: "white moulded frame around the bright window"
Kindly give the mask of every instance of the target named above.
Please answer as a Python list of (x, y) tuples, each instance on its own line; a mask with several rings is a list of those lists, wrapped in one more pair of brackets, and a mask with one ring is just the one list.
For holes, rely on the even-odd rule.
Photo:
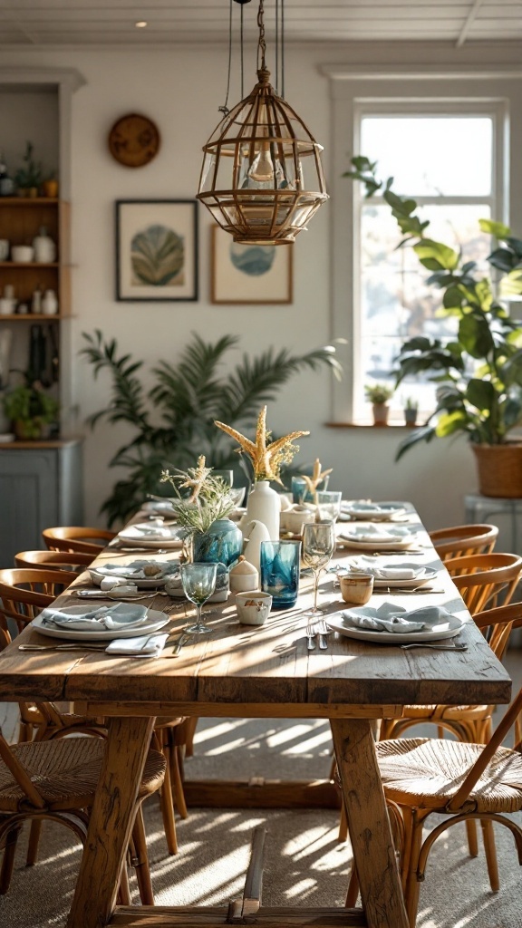
[[(371, 69), (368, 69), (371, 71)], [(332, 274), (333, 338), (345, 338), (345, 375), (333, 385), (333, 422), (357, 422), (355, 384), (359, 373), (359, 201), (361, 191), (342, 175), (359, 150), (360, 115), (407, 112), (421, 114), (489, 115), (493, 119), (492, 218), (511, 223), (522, 235), (522, 177), (517, 172), (522, 150), (522, 109), (519, 99), (522, 72), (502, 69), (486, 74), (476, 70), (434, 74), (418, 68), (373, 74), (348, 67), (324, 66), (332, 98), (333, 157), (330, 192), (333, 199)], [(513, 168), (511, 166), (514, 166)], [(402, 192), (402, 191), (401, 191)], [(408, 193), (408, 191), (403, 191)], [(413, 193), (414, 195), (414, 193)], [(421, 202), (421, 198), (416, 198)], [(424, 202), (425, 198), (422, 198)], [(429, 198), (426, 198), (429, 200)], [(487, 198), (485, 198), (486, 200)], [(459, 198), (460, 200), (460, 198)]]

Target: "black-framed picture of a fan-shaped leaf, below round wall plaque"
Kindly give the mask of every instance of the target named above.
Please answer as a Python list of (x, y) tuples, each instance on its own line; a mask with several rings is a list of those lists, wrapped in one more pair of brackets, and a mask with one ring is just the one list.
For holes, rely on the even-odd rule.
[(197, 200), (116, 200), (116, 300), (198, 299)]

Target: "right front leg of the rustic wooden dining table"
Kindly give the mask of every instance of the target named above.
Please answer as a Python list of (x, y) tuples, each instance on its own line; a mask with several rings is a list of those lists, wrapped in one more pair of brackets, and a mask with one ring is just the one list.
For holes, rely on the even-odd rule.
[(368, 928), (408, 928), (372, 722), (332, 719), (331, 724)]

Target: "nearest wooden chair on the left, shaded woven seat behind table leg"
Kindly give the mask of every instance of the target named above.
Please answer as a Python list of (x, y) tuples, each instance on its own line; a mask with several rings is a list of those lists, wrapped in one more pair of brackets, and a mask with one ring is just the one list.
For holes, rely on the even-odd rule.
[[(30, 741), (9, 746), (0, 731), (0, 894), (7, 893), (20, 829), (26, 820), (58, 821), (85, 844), (88, 812), (94, 802), (104, 745), (93, 738)], [(150, 751), (137, 796), (131, 860), (144, 905), (153, 904), (150, 868), (141, 803), (160, 788), (165, 773), (163, 754)], [(126, 869), (120, 897), (130, 905)]]

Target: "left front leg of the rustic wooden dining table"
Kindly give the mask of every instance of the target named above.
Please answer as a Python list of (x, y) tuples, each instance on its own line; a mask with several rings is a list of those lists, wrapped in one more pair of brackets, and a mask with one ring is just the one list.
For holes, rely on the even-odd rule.
[(68, 928), (110, 921), (153, 727), (154, 718), (111, 718)]

